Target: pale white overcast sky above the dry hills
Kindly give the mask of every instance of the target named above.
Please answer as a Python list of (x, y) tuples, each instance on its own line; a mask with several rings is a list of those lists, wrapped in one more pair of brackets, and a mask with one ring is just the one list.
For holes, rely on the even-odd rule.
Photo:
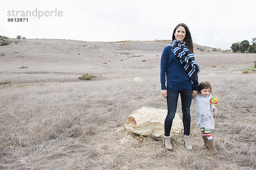
[[(0, 0), (0, 35), (83, 41), (171, 40), (185, 23), (193, 42), (230, 49), (256, 37), (256, 0)], [(62, 12), (8, 22), (8, 11)], [(12, 12), (11, 12), (12, 13)], [(18, 13), (20, 18), (21, 12)], [(34, 14), (36, 14), (34, 12)]]

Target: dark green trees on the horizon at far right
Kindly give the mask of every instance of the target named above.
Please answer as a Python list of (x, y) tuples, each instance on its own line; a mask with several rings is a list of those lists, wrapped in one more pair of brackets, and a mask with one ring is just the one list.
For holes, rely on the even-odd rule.
[(252, 38), (251, 43), (253, 45), (250, 45), (248, 40), (243, 40), (242, 42), (234, 42), (230, 48), (233, 50), (233, 52), (256, 53), (256, 37)]

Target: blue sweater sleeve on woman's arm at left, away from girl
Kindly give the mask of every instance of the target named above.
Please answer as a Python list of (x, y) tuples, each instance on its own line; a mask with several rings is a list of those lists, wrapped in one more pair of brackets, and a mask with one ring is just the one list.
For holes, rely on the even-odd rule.
[(166, 90), (166, 68), (167, 68), (167, 53), (166, 48), (163, 49), (163, 53), (161, 56), (161, 72), (160, 72), (160, 82), (162, 90)]

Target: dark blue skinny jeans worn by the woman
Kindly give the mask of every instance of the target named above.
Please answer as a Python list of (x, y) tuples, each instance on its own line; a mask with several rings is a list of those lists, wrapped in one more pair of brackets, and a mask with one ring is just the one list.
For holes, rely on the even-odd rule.
[(172, 128), (172, 120), (174, 119), (174, 116), (176, 113), (179, 94), (180, 94), (181, 108), (183, 113), (182, 122), (184, 127), (184, 135), (190, 134), (190, 105), (192, 102), (193, 91), (192, 89), (191, 90), (171, 90), (171, 88), (167, 86), (168, 113), (164, 121), (165, 136), (170, 136), (170, 131)]

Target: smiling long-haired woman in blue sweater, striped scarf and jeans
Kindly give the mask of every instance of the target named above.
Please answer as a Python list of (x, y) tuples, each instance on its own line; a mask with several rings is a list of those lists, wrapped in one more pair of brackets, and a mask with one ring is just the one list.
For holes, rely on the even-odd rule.
[[(192, 37), (188, 26), (178, 24), (172, 34), (173, 42), (163, 49), (161, 57), (160, 81), (162, 96), (167, 99), (168, 113), (164, 122), (164, 139), (168, 150), (172, 150), (170, 131), (172, 120), (177, 109), (180, 94), (182, 106), (182, 121), (184, 127), (184, 142), (188, 150), (192, 149), (190, 143), (190, 105), (192, 96), (198, 94), (199, 66), (193, 54)], [(167, 87), (166, 87), (167, 80)]]

